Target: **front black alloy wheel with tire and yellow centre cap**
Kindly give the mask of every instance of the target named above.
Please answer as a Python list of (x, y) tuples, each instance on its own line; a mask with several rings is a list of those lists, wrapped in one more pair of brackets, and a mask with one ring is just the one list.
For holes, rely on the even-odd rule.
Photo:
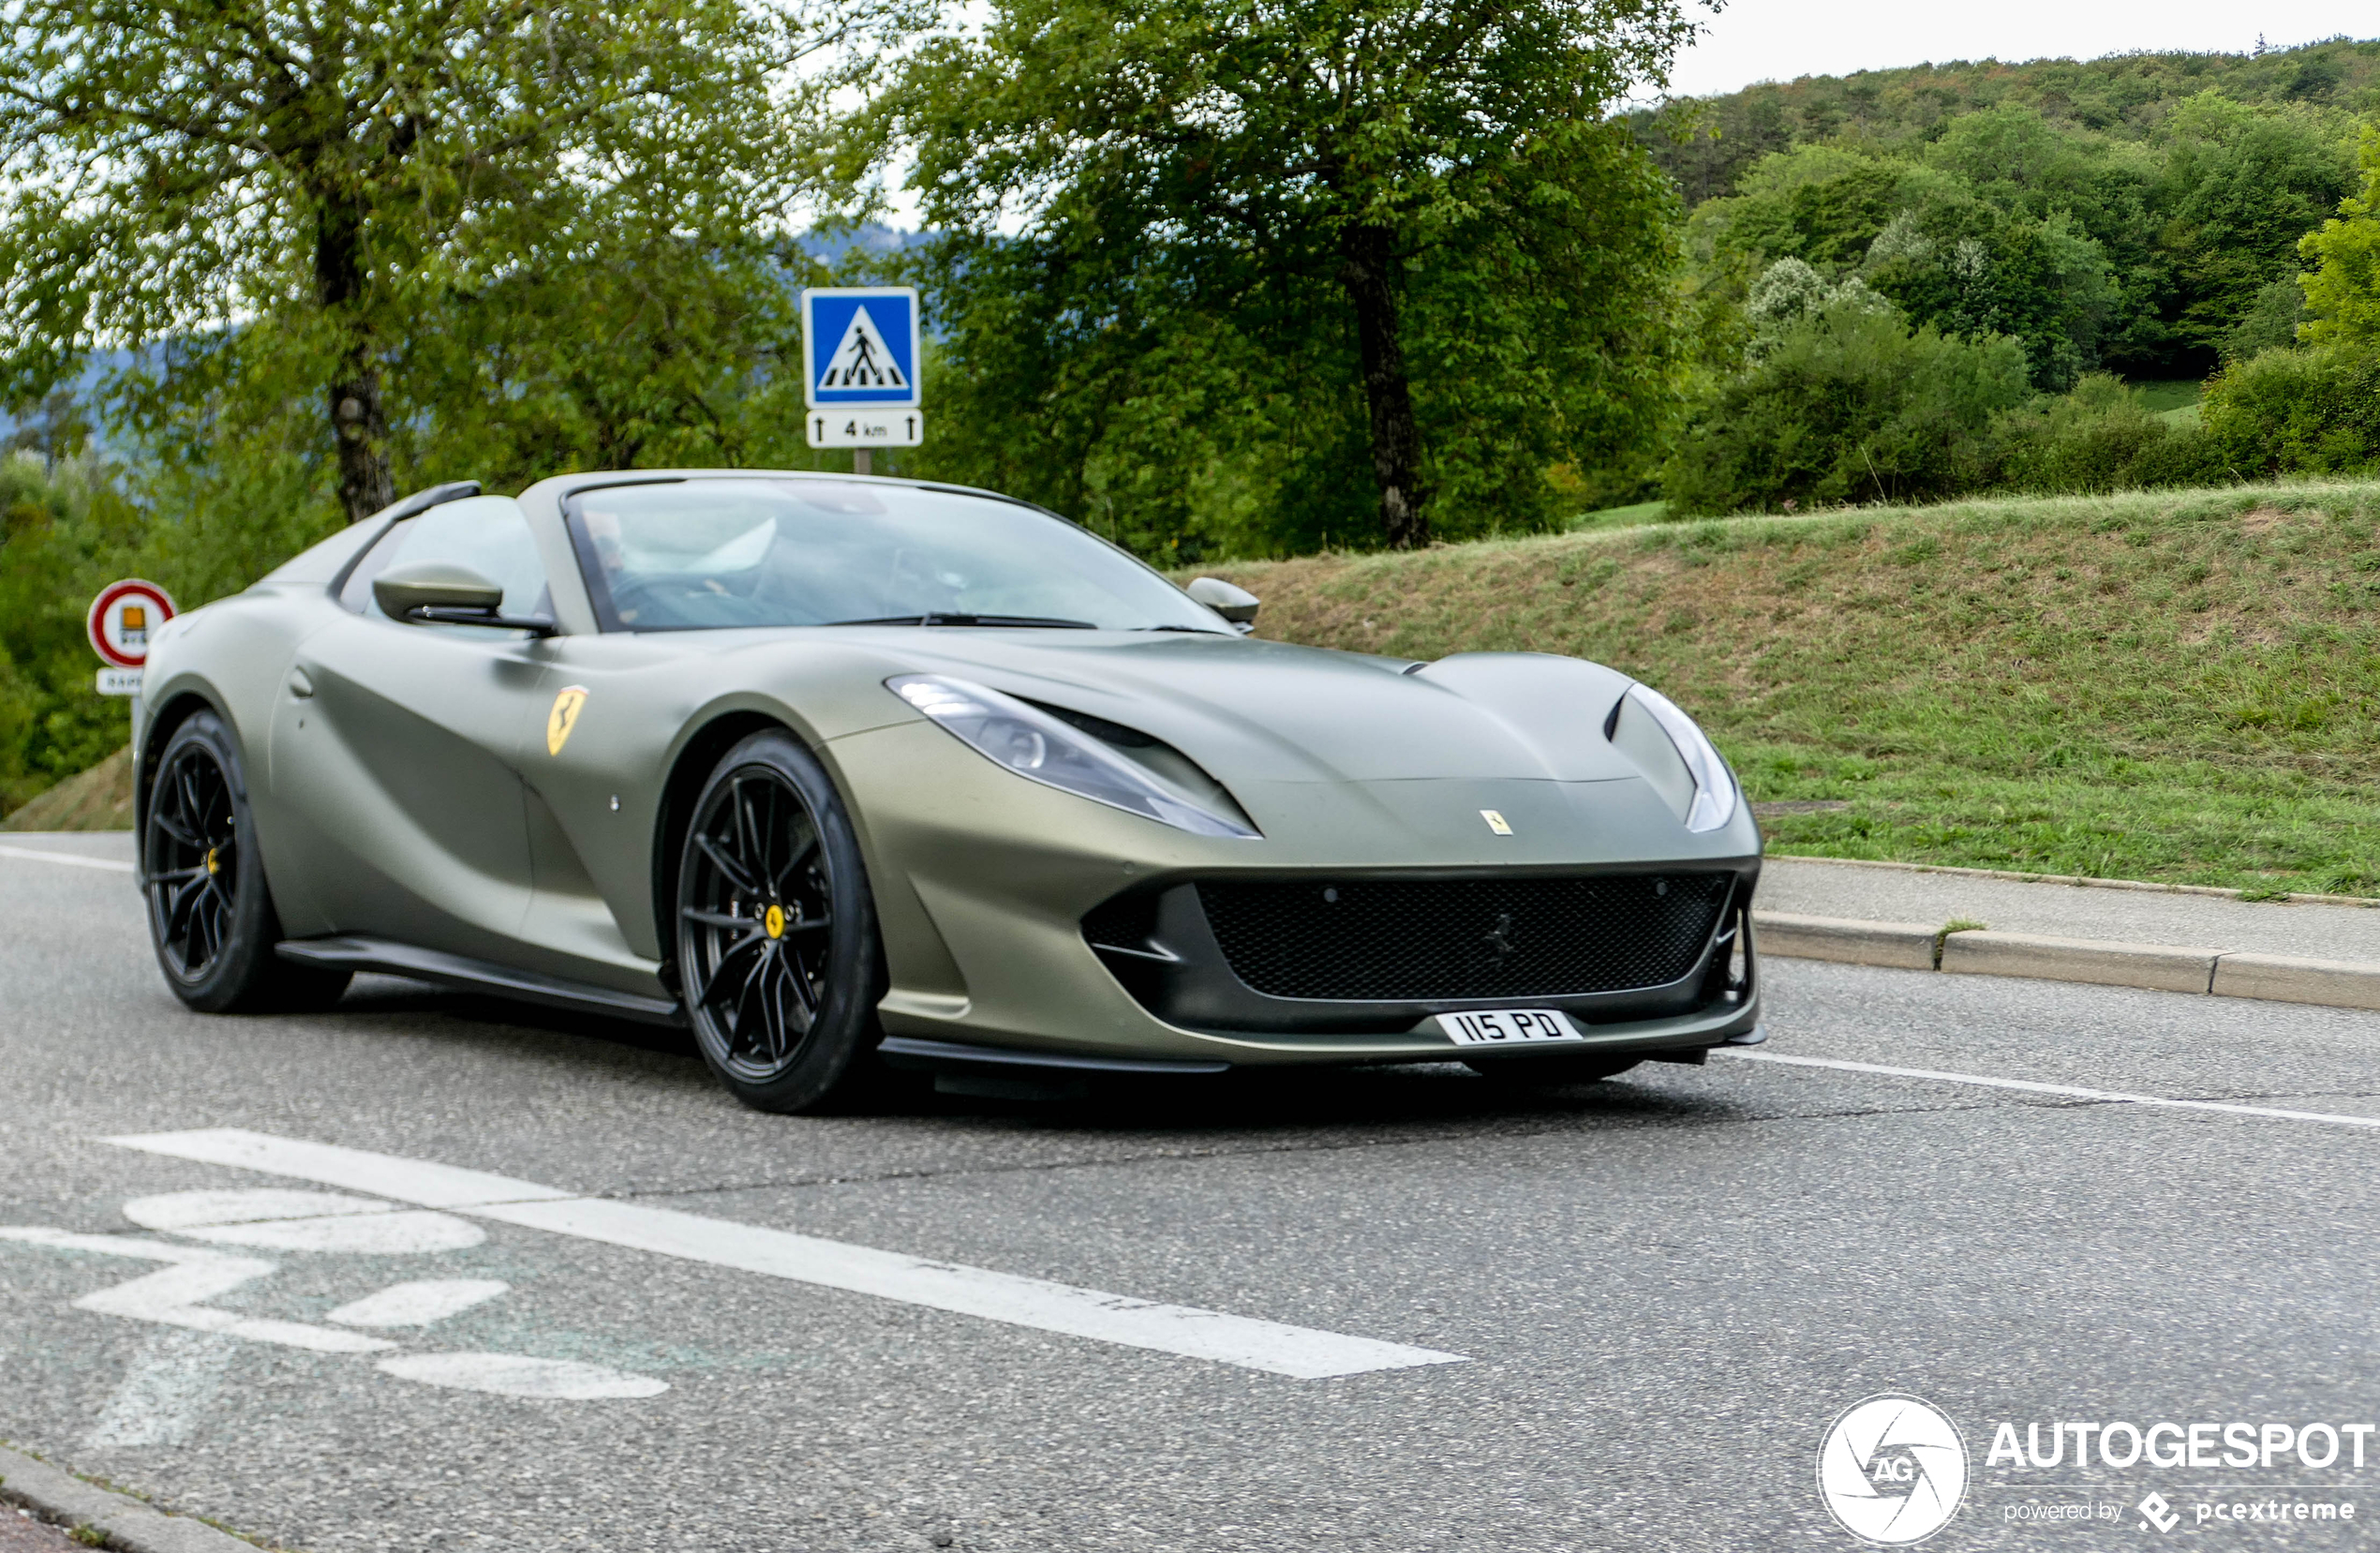
[(757, 1110), (845, 1100), (873, 1072), (883, 972), (859, 841), (816, 757), (738, 743), (678, 857), (678, 988), (712, 1072)]

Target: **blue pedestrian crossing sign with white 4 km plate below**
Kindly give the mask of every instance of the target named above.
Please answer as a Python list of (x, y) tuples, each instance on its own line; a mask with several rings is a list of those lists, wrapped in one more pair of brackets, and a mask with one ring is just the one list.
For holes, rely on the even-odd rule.
[(809, 369), (809, 445), (850, 448), (869, 474), (871, 448), (926, 441), (919, 393), (914, 286), (814, 286), (802, 293), (802, 360)]

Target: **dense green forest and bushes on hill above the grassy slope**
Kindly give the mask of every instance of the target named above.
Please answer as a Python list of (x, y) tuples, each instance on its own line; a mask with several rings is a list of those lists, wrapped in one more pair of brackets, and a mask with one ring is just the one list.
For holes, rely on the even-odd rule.
[[(2380, 43), (1925, 64), (1630, 126), (1699, 353), (1678, 512), (2363, 469)], [(2204, 405), (2202, 400), (2204, 383)]]

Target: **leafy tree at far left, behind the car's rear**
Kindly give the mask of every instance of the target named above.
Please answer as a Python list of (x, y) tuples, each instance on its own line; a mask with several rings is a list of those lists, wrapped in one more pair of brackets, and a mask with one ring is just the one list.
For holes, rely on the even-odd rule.
[(0, 393), (38, 398), (95, 348), (271, 333), (355, 519), (395, 495), (400, 343), (602, 224), (740, 241), (797, 169), (771, 81), (850, 17), (7, 0), (0, 24)]

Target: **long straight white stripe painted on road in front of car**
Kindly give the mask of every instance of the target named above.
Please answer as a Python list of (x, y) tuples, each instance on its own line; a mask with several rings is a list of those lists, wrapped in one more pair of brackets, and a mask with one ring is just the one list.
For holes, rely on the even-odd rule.
[(1457, 1365), (1461, 1353), (1409, 1348), (1366, 1336), (1316, 1331), (1285, 1322), (1261, 1322), (1195, 1305), (1161, 1305), (1097, 1289), (1073, 1289), (1045, 1279), (935, 1262), (845, 1241), (823, 1241), (783, 1229), (735, 1224), (671, 1208), (578, 1198), (552, 1186), (455, 1170), (426, 1160), (276, 1139), (240, 1129), (205, 1129), (107, 1139), (126, 1148), (240, 1165), (321, 1186), (371, 1191), (400, 1203), (447, 1208), (502, 1224), (521, 1224), (607, 1246), (712, 1267), (735, 1267), (797, 1284), (821, 1284), (871, 1293), (907, 1305), (952, 1310), (1035, 1331), (1088, 1336), (1128, 1348), (1154, 1348), (1188, 1358), (1266, 1370), (1297, 1379)]

